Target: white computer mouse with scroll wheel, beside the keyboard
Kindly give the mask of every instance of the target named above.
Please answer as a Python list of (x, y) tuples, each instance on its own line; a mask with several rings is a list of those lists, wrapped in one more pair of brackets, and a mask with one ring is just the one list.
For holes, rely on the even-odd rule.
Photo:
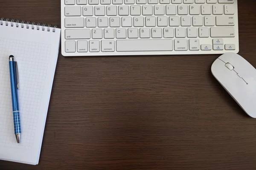
[(256, 118), (256, 69), (236, 53), (226, 53), (212, 64), (212, 74), (241, 108)]

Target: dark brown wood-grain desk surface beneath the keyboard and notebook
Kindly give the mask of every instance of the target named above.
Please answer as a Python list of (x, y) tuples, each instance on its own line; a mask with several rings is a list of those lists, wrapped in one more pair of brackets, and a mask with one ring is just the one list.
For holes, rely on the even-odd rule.
[[(61, 25), (60, 0), (0, 0), (0, 17)], [(239, 54), (256, 66), (256, 1)], [(1, 170), (255, 170), (256, 119), (210, 72), (219, 55), (62, 57), (40, 161)]]

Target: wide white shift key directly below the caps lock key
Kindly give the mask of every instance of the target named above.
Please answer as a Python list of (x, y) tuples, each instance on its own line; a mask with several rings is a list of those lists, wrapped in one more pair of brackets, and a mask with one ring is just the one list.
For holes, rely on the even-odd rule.
[(66, 39), (90, 39), (90, 29), (66, 29)]

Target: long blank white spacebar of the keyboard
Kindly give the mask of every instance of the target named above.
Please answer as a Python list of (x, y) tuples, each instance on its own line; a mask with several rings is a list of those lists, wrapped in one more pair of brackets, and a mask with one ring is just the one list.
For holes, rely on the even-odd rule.
[(172, 51), (172, 40), (116, 40), (116, 51)]

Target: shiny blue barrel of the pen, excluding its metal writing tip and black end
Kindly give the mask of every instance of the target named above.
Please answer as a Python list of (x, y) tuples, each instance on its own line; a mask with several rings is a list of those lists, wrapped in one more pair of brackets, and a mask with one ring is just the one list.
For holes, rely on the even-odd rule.
[(18, 90), (16, 80), (15, 61), (9, 61), (10, 68), (10, 80), (11, 80), (11, 92), (12, 92), (12, 111), (13, 121), (15, 127), (15, 134), (20, 133), (20, 109), (18, 103)]

